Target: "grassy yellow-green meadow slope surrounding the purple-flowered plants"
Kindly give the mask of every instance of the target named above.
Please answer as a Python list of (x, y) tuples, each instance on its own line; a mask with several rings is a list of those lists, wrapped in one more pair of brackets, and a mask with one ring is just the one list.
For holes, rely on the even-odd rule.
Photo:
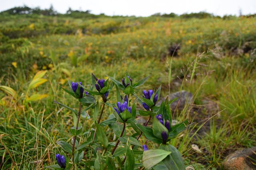
[[(78, 108), (59, 85), (67, 88), (70, 79), (92, 88), (91, 73), (105, 79), (115, 74), (121, 80), (128, 71), (134, 81), (150, 76), (135, 90), (138, 96), (160, 85), (162, 98), (191, 92), (192, 104), (172, 110), (173, 119), (191, 123), (170, 141), (186, 166), (222, 169), (228, 154), (256, 146), (255, 17), (1, 15), (0, 87), (12, 88), (0, 88), (1, 169), (54, 164), (56, 141), (71, 141), (68, 127), (76, 118), (53, 101)], [(175, 47), (177, 54), (170, 51)], [(33, 86), (40, 70), (46, 70), (43, 80)], [(114, 91), (111, 103), (117, 100)], [(112, 113), (110, 107), (105, 111), (102, 120)], [(88, 115), (81, 119), (84, 134), (94, 128), (93, 112)], [(109, 131), (108, 126), (104, 129)]]

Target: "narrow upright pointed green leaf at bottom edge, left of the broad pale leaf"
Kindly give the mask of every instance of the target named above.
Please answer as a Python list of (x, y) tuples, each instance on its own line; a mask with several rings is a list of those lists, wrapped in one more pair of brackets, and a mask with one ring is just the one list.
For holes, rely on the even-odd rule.
[(126, 160), (124, 163), (124, 170), (134, 170), (134, 166), (135, 166), (134, 153), (132, 151), (132, 146), (130, 145), (130, 140), (128, 138), (128, 141), (126, 144)]

